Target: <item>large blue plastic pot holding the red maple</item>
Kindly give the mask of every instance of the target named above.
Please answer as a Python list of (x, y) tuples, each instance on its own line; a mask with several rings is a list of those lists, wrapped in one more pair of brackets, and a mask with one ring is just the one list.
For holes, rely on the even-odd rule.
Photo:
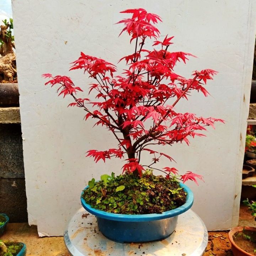
[[(97, 217), (98, 228), (110, 240), (121, 243), (161, 240), (172, 234), (177, 225), (178, 215), (186, 212), (193, 204), (192, 191), (182, 183), (180, 186), (187, 192), (186, 203), (160, 214), (108, 213), (92, 208), (82, 197), (81, 203), (89, 213)], [(85, 187), (85, 190), (88, 187)]]

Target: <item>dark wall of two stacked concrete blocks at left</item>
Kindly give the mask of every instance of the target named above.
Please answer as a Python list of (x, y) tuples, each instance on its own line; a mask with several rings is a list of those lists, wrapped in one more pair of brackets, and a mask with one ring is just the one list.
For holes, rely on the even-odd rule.
[(0, 123), (0, 213), (27, 222), (21, 125)]

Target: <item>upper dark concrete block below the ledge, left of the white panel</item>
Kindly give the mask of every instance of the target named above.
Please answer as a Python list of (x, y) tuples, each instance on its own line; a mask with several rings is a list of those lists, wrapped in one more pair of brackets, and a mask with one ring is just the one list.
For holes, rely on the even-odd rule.
[(0, 124), (0, 178), (24, 178), (20, 124)]

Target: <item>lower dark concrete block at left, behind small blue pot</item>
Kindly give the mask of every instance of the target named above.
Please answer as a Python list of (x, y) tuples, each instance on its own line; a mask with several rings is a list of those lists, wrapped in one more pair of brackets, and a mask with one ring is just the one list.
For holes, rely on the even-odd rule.
[(25, 179), (0, 178), (0, 212), (6, 213), (10, 222), (27, 222)]

